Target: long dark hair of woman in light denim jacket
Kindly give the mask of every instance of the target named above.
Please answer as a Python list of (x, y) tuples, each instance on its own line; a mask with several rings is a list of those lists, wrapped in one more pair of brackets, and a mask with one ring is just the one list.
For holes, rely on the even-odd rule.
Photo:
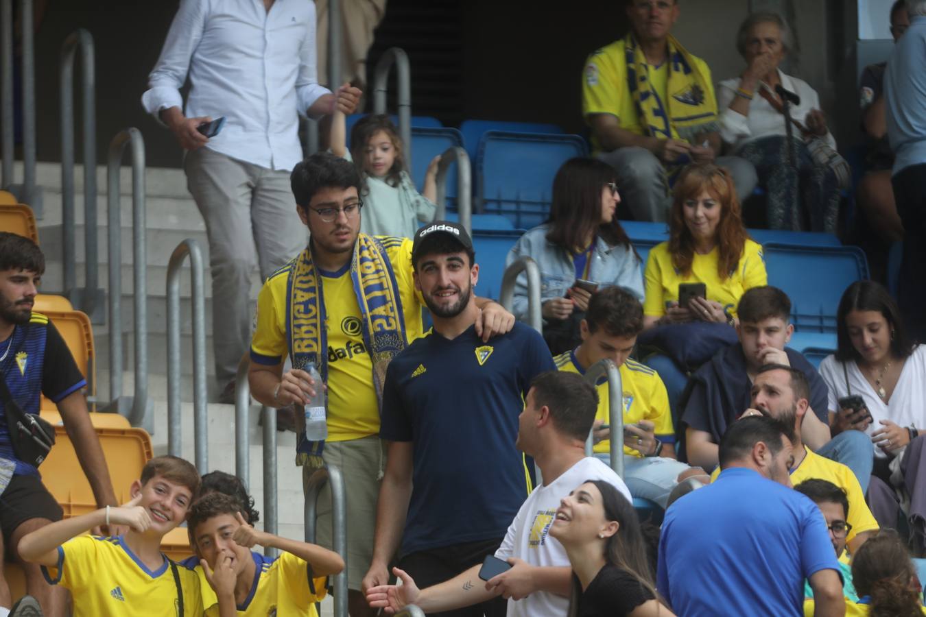
[(611, 246), (621, 244), (632, 249), (617, 213), (610, 223), (601, 222), (601, 191), (611, 182), (617, 182), (614, 167), (596, 158), (577, 156), (563, 163), (553, 179), (546, 240), (571, 253), (596, 233)]

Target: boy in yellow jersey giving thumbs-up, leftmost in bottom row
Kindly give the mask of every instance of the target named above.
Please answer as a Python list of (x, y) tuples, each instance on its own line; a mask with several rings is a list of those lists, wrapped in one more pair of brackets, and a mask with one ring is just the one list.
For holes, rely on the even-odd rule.
[[(19, 554), (43, 566), (51, 584), (67, 587), (74, 617), (203, 614), (196, 575), (178, 567), (160, 550), (161, 539), (186, 519), (199, 492), (193, 464), (175, 456), (159, 456), (144, 465), (131, 484), (131, 500), (118, 508), (45, 525), (19, 541)], [(94, 527), (124, 524), (124, 536), (84, 536)], [(219, 566), (217, 578), (229, 580), (231, 564)], [(234, 605), (219, 615), (234, 615)]]

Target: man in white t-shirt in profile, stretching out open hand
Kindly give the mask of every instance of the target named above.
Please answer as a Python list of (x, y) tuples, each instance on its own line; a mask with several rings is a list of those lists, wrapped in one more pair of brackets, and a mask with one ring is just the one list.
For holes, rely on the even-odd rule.
[(585, 456), (585, 438), (597, 407), (597, 392), (582, 376), (550, 371), (534, 377), (519, 416), (516, 445), (533, 457), (544, 484), (534, 488), (524, 501), (495, 551), (495, 557), (511, 564), (507, 572), (482, 583), (482, 566), (475, 565), (449, 581), (419, 590), (408, 574), (394, 568), (402, 585), (370, 587), (369, 605), (398, 611), (415, 604), (433, 614), (502, 596), (508, 599), (508, 617), (565, 616), (571, 580), (569, 557), (559, 541), (548, 535), (559, 501), (586, 480), (599, 479), (632, 500), (617, 474), (605, 463)]

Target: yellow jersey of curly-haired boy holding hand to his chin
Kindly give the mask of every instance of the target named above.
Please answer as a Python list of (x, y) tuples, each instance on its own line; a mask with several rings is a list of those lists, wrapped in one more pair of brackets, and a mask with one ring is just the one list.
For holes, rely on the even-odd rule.
[[(251, 595), (238, 605), (239, 615), (317, 617), (315, 603), (325, 597), (327, 576), (313, 577), (307, 561), (291, 553), (282, 552), (280, 557), (272, 558), (251, 551), (251, 556), (257, 571)], [(203, 589), (207, 617), (219, 617), (219, 600), (215, 591), (206, 582), (203, 568), (197, 565), (195, 571)]]

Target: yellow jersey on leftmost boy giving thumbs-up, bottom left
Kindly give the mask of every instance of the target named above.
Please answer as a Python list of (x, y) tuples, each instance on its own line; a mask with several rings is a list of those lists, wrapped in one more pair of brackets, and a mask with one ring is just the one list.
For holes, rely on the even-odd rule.
[[(177, 581), (167, 557), (156, 571), (144, 566), (122, 537), (81, 536), (58, 547), (56, 566), (45, 579), (70, 590), (74, 617), (132, 615), (181, 617)], [(176, 567), (183, 594), (183, 615), (203, 614), (196, 575)]]

